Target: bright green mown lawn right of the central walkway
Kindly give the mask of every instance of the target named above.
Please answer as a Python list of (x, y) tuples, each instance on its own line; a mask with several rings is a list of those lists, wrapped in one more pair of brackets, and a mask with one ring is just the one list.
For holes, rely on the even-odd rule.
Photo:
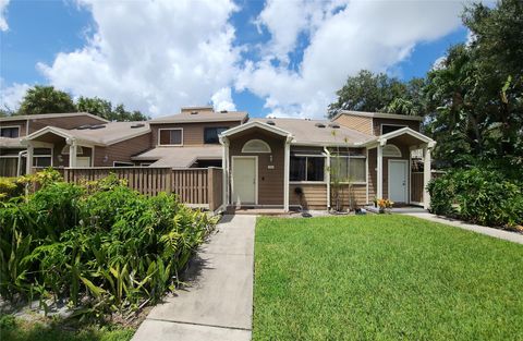
[(523, 245), (405, 216), (260, 218), (254, 340), (523, 340)]

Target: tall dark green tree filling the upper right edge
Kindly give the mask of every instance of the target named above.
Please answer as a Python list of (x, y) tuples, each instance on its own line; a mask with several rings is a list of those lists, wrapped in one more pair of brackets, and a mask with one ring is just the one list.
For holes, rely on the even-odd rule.
[(463, 23), (470, 45), (452, 47), (427, 75), (429, 133), (437, 158), (452, 167), (496, 167), (522, 178), (523, 2), (473, 4)]

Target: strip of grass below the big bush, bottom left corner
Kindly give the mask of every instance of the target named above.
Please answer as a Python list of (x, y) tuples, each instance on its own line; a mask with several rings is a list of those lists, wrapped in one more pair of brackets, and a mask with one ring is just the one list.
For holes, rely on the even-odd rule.
[(129, 341), (134, 329), (118, 326), (83, 326), (71, 328), (59, 322), (42, 324), (0, 316), (0, 340), (10, 341)]

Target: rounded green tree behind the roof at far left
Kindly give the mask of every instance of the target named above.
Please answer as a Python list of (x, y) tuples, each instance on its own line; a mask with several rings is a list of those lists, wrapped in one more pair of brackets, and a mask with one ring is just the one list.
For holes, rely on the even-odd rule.
[(76, 107), (68, 93), (53, 86), (36, 85), (27, 89), (17, 114), (74, 112)]

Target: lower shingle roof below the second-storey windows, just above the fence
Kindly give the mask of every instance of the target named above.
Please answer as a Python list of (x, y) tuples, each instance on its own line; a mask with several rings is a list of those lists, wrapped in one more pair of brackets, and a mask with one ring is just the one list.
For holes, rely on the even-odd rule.
[(157, 160), (151, 167), (191, 167), (196, 160), (221, 159), (221, 146), (156, 147), (131, 159), (136, 161)]

